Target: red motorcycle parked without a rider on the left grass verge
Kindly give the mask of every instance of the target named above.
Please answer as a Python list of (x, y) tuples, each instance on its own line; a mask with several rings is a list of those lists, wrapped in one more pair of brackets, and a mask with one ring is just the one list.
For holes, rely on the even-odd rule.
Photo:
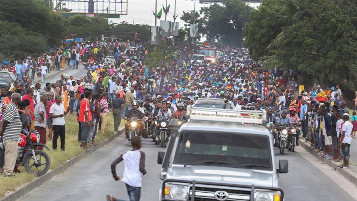
[(36, 176), (42, 176), (50, 169), (50, 156), (42, 150), (36, 150), (36, 147), (44, 147), (50, 151), (49, 147), (40, 143), (39, 133), (22, 130), (17, 146), (17, 166), (24, 166), (27, 172)]

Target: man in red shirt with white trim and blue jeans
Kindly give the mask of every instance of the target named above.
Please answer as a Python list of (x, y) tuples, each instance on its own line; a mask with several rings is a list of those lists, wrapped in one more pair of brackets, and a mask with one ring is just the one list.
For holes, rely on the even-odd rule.
[(92, 93), (87, 91), (84, 93), (84, 98), (81, 100), (80, 108), (79, 108), (79, 117), (78, 121), (81, 123), (81, 147), (87, 151), (89, 148), (87, 147), (87, 139), (89, 136), (90, 127), (94, 126), (92, 122), (92, 112), (89, 109), (90, 101), (92, 99)]

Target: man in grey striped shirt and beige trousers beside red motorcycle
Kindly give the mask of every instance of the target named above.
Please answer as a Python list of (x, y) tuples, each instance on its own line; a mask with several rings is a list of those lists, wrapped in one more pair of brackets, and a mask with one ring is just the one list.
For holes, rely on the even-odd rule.
[(4, 141), (5, 147), (5, 163), (4, 163), (4, 176), (14, 176), (12, 171), (16, 164), (17, 157), (17, 141), (21, 133), (21, 120), (19, 114), (19, 104), (21, 102), (21, 95), (14, 93), (11, 95), (11, 103), (6, 107), (2, 116), (2, 128), (0, 135)]

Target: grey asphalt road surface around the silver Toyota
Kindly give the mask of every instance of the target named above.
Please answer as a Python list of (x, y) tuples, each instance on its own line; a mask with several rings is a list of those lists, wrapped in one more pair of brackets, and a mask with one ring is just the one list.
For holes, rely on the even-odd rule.
[[(93, 155), (69, 168), (67, 172), (30, 192), (20, 201), (97, 201), (105, 200), (106, 194), (128, 200), (124, 184), (112, 179), (110, 164), (116, 157), (130, 148), (129, 142), (125, 141), (123, 136), (120, 136)], [(156, 146), (149, 139), (145, 139), (142, 150), (146, 152), (148, 173), (143, 177), (141, 200), (157, 201), (161, 167), (157, 165), (156, 159), (157, 152), (164, 150), (164, 148)], [(308, 162), (305, 158), (310, 157), (310, 155), (302, 148), (298, 149), (297, 152), (287, 152), (281, 156), (277, 149), (275, 151), (276, 162), (279, 159), (289, 160), (289, 173), (280, 175), (280, 187), (286, 193), (286, 201), (356, 200), (357, 196), (352, 198), (346, 193), (346, 191), (355, 193), (356, 187), (348, 183), (344, 177), (334, 175), (335, 171), (326, 169), (326, 165), (320, 164), (317, 160), (312, 163)], [(308, 160), (315, 159), (311, 157)], [(123, 167), (123, 164), (117, 166), (119, 175), (122, 175)], [(338, 179), (332, 180), (333, 177)], [(334, 181), (340, 181), (340, 183), (337, 184)]]

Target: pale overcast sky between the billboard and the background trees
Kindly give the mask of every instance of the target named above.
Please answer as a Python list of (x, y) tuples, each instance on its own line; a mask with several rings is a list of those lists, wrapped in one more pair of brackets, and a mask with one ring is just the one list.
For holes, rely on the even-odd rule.
[[(191, 0), (176, 0), (176, 21), (179, 22), (180, 27), (183, 26), (183, 21), (180, 19), (182, 16), (182, 11), (190, 11), (194, 8), (194, 1)], [(201, 7), (210, 6), (210, 4), (199, 4), (199, 0), (196, 0), (196, 11), (199, 11)], [(157, 0), (157, 11), (165, 6), (166, 0)], [(167, 20), (174, 21), (173, 15), (175, 10), (175, 0), (167, 0), (167, 5), (170, 4), (170, 10), (167, 14)], [(256, 7), (259, 4), (252, 4), (251, 6)], [(155, 0), (128, 0), (128, 15), (121, 15), (120, 19), (109, 19), (115, 23), (120, 23), (126, 21), (127, 23), (135, 24), (148, 24), (155, 26), (155, 18), (152, 15), (152, 10), (155, 11)], [(165, 13), (162, 12), (160, 20), (165, 20)], [(160, 26), (160, 20), (157, 20), (157, 26)]]

